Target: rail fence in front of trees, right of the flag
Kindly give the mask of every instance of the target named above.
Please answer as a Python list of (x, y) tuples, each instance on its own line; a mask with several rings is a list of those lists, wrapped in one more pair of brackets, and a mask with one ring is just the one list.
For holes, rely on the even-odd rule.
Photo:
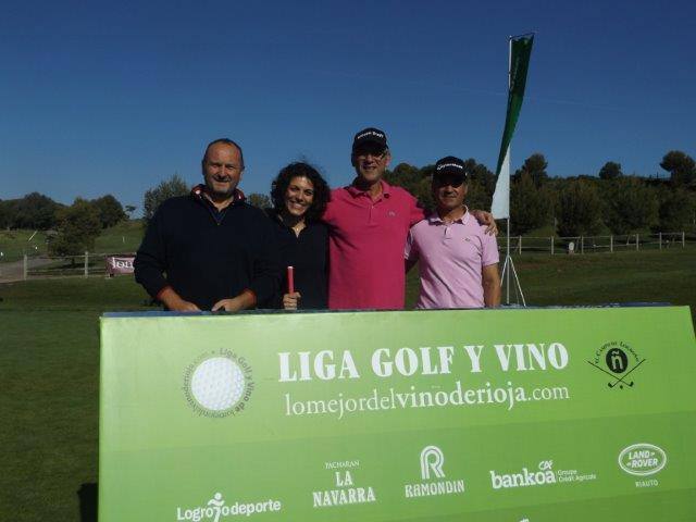
[[(668, 248), (686, 248), (696, 245), (696, 234), (685, 232), (658, 232), (656, 234), (626, 234), (610, 236), (510, 236), (511, 253), (588, 253), (617, 252), (625, 250), (661, 250)], [(498, 238), (498, 248), (507, 251), (507, 237)]]

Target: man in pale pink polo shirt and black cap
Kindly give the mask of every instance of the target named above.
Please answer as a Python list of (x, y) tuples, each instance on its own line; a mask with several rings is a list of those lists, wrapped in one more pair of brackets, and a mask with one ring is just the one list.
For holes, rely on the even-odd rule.
[(497, 307), (498, 245), (464, 206), (464, 163), (452, 156), (439, 160), (432, 189), (437, 210), (411, 228), (405, 251), (409, 266), (420, 260), (417, 308)]

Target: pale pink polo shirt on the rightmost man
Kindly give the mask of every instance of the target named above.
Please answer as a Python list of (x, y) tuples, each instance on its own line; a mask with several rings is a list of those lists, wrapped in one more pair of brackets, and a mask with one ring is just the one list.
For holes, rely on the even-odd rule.
[(405, 258), (420, 259), (417, 308), (483, 308), (481, 272), (498, 262), (498, 244), (485, 229), (469, 211), (450, 224), (433, 214), (411, 228)]

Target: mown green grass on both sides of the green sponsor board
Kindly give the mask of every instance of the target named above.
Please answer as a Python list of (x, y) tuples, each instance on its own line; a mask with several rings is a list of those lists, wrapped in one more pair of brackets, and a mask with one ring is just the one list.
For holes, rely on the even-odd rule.
[[(530, 304), (670, 301), (696, 310), (693, 247), (514, 262)], [(417, 295), (412, 271), (409, 306)], [(7, 284), (0, 297), (0, 520), (80, 520), (77, 493), (94, 493), (98, 472), (99, 315), (152, 308), (128, 276)]]

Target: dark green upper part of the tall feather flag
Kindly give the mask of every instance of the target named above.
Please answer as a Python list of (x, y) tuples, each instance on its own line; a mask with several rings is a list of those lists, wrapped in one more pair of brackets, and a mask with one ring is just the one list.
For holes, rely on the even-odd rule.
[(524, 87), (526, 86), (526, 72), (530, 69), (530, 57), (534, 45), (534, 35), (513, 38), (510, 42), (510, 86), (508, 90), (508, 111), (505, 116), (505, 129), (502, 130), (502, 141), (498, 153), (498, 164), (496, 176), (500, 174), (500, 167), (508, 151), (514, 127), (520, 117), (522, 99), (524, 98)]

